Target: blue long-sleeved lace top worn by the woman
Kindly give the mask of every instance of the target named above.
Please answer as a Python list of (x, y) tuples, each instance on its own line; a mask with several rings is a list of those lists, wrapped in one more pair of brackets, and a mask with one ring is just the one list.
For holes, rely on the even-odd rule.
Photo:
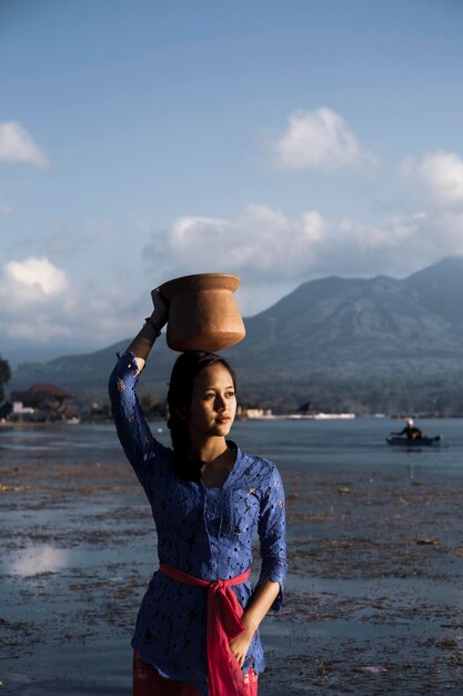
[[(161, 563), (205, 580), (229, 579), (244, 573), (252, 560), (252, 537), (258, 530), (261, 571), (280, 583), (272, 608), (282, 603), (286, 574), (284, 491), (274, 464), (242, 453), (221, 488), (180, 480), (171, 466), (172, 450), (152, 436), (135, 395), (133, 354), (118, 361), (109, 392), (118, 436), (148, 500), (158, 533)], [(245, 608), (252, 599), (251, 581), (232, 587)], [(165, 677), (192, 684), (208, 696), (205, 628), (207, 589), (183, 585), (157, 571), (139, 610), (132, 647), (143, 662)], [(265, 667), (259, 630), (248, 650), (243, 673)]]

